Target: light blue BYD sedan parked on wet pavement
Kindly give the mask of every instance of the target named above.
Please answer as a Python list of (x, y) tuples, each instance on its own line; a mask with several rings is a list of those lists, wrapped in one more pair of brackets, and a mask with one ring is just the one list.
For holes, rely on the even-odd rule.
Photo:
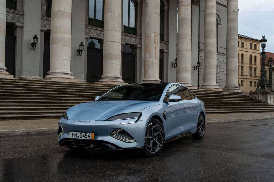
[(58, 143), (156, 156), (168, 141), (202, 139), (205, 119), (204, 103), (179, 83), (126, 84), (69, 108), (59, 120)]

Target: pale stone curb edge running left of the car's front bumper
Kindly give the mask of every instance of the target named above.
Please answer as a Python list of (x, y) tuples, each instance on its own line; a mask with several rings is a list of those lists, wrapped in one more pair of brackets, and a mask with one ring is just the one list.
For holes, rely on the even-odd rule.
[(34, 135), (44, 133), (57, 133), (57, 128), (36, 128), (22, 130), (0, 130), (0, 136)]

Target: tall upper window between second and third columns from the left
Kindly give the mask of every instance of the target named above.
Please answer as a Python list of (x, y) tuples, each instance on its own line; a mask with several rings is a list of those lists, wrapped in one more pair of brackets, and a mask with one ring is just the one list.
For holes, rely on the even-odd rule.
[(104, 0), (88, 1), (88, 24), (96, 27), (104, 26)]

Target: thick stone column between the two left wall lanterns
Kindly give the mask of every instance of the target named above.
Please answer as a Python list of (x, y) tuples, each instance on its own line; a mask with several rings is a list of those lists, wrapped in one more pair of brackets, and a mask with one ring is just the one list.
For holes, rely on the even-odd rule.
[(63, 81), (74, 79), (70, 71), (71, 6), (71, 0), (52, 1), (50, 71), (46, 76), (47, 79)]

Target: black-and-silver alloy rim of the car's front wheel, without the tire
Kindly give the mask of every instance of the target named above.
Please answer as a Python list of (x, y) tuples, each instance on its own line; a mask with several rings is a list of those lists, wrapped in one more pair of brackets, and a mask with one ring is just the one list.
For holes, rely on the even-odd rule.
[(163, 129), (158, 123), (150, 123), (146, 128), (145, 147), (150, 153), (158, 152), (163, 145)]

